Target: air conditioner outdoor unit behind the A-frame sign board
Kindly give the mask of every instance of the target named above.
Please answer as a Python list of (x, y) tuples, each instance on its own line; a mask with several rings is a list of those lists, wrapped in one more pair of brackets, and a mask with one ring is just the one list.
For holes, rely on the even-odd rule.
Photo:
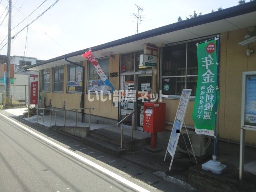
[[(184, 138), (183, 138), (182, 134), (183, 134)], [(183, 153), (189, 153), (189, 151), (192, 152), (192, 148), (191, 148), (191, 145), (190, 145), (190, 142), (188, 139), (188, 135), (189, 135), (190, 141), (192, 143), (192, 147), (193, 147), (195, 156), (198, 156), (198, 157), (204, 156), (206, 153), (206, 149), (208, 148), (208, 146), (210, 144), (210, 136), (198, 135), (198, 134), (196, 134), (196, 132), (190, 131), (190, 130), (188, 130), (188, 134), (186, 133), (186, 130), (182, 130), (176, 150), (183, 152)], [(190, 154), (192, 154), (192, 153), (190, 153)]]

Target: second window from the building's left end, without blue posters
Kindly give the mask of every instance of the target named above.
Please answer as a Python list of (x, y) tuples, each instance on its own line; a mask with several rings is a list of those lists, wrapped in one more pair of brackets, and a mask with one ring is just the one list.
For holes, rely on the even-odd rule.
[(53, 91), (63, 92), (63, 82), (64, 82), (64, 66), (55, 67), (53, 71)]

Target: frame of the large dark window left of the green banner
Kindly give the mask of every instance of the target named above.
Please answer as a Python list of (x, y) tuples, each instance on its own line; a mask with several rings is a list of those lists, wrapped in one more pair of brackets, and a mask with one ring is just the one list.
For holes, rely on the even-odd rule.
[[(217, 35), (217, 34), (216, 34)], [(185, 88), (187, 88), (187, 82), (188, 82), (188, 77), (197, 77), (198, 75), (188, 75), (187, 74), (187, 70), (188, 70), (188, 43), (189, 42), (193, 42), (193, 41), (200, 41), (200, 40), (204, 40), (204, 39), (211, 39), (214, 38), (216, 35), (212, 35), (212, 36), (204, 36), (201, 38), (194, 38), (194, 39), (190, 39), (190, 40), (186, 40), (186, 41), (181, 41), (181, 42), (175, 42), (172, 44), (168, 44), (165, 47), (168, 46), (173, 46), (173, 45), (178, 45), (178, 44), (184, 44), (186, 43), (186, 70), (185, 70), (185, 75), (180, 75), (180, 76), (162, 76), (162, 70), (163, 70), (163, 49), (160, 49), (160, 83), (159, 83), (159, 92), (160, 90), (162, 90), (162, 79), (163, 78), (185, 78)], [(162, 94), (162, 99), (180, 99), (181, 95), (165, 95)], [(190, 96), (190, 100), (195, 100), (196, 96)]]

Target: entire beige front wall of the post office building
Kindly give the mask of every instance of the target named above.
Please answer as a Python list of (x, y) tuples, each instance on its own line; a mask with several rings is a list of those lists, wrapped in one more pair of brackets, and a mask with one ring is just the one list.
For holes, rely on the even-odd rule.
[[(246, 56), (247, 46), (240, 46), (238, 42), (244, 39), (246, 29), (226, 32), (221, 34), (220, 37), (220, 104), (218, 112), (218, 138), (227, 139), (234, 142), (240, 141), (240, 121), (241, 121), (241, 94), (242, 94), (242, 72), (244, 71), (256, 71), (256, 53)], [(256, 51), (256, 43), (249, 45), (250, 49)], [(120, 72), (119, 70), (120, 54), (114, 55), (113, 58), (109, 58), (109, 70), (111, 72)], [(83, 63), (86, 72), (84, 77), (85, 91), (87, 90), (87, 61)], [(159, 77), (154, 76), (153, 82)], [(64, 92), (54, 93), (42, 92), (42, 97), (46, 98), (46, 105), (49, 100), (52, 100), (52, 106), (62, 108), (63, 101), (66, 101), (66, 109), (79, 108), (81, 94), (66, 93), (67, 82), (67, 68), (64, 67)], [(119, 89), (119, 78), (109, 78), (116, 90)], [(158, 84), (159, 85), (159, 82)], [(50, 86), (52, 86), (52, 72), (50, 76)], [(154, 83), (153, 83), (153, 89)], [(105, 99), (106, 95), (103, 96)], [(102, 102), (96, 100), (96, 95), (92, 95), (94, 101), (89, 102), (88, 94), (85, 94), (85, 107), (94, 107), (92, 114), (102, 116), (106, 118), (118, 119), (118, 108), (112, 106), (112, 101), (108, 100)], [(173, 122), (176, 110), (179, 104), (179, 100), (163, 99), (162, 102), (166, 103), (166, 121)], [(185, 116), (186, 125), (194, 126), (192, 120), (194, 101), (190, 101)], [(88, 113), (88, 111), (85, 111)], [(170, 130), (172, 126), (166, 126), (166, 129)], [(246, 143), (256, 145), (256, 132), (246, 131)]]

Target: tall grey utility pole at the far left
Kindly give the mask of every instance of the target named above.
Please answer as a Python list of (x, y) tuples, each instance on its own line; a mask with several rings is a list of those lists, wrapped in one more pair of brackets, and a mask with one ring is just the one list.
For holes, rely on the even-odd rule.
[(7, 45), (7, 67), (6, 67), (6, 104), (10, 104), (10, 64), (11, 64), (11, 27), (12, 27), (12, 0), (9, 0), (8, 20), (8, 45)]

